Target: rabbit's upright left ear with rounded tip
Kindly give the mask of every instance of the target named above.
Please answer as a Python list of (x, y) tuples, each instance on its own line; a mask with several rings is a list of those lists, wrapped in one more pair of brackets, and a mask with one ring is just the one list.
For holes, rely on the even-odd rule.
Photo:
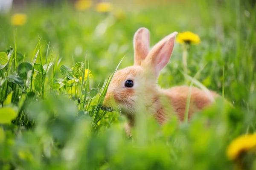
[(149, 31), (140, 28), (134, 34), (134, 65), (141, 65), (149, 51)]

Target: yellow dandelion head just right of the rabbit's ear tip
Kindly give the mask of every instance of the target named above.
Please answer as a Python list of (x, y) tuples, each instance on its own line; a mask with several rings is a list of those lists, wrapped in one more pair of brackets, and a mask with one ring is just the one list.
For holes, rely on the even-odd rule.
[(180, 44), (199, 44), (201, 42), (200, 37), (190, 31), (182, 32), (177, 35), (177, 42)]

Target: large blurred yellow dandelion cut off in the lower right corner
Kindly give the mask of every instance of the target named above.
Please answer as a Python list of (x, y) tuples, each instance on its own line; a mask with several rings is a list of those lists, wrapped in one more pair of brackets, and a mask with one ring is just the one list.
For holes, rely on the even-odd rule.
[(227, 157), (234, 160), (248, 150), (256, 147), (256, 133), (239, 136), (227, 148)]

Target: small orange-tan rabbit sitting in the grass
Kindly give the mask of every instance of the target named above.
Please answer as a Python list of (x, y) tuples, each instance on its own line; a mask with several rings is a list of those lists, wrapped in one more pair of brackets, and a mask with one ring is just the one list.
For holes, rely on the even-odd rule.
[(160, 71), (171, 57), (176, 35), (177, 32), (169, 34), (150, 50), (148, 29), (139, 28), (134, 34), (134, 65), (116, 72), (102, 104), (102, 110), (113, 111), (116, 105), (128, 117), (127, 133), (129, 127), (134, 125), (134, 119), (142, 104), (157, 122), (163, 124), (169, 119), (169, 112), (183, 121), (189, 93), (191, 97), (188, 118), (192, 113), (213, 103), (218, 96), (214, 91), (203, 91), (195, 87), (191, 87), (191, 90), (188, 86), (161, 89), (157, 85)]

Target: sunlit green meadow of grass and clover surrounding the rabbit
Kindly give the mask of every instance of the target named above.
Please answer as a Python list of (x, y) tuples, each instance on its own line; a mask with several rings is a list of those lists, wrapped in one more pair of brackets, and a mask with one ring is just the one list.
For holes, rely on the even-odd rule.
[[(0, 15), (0, 169), (255, 170), (256, 6), (140, 0), (95, 9), (88, 1)], [(189, 122), (159, 125), (145, 114), (128, 137), (126, 117), (101, 106), (116, 69), (133, 65), (140, 27), (151, 45), (174, 31), (198, 34), (187, 72), (176, 42), (158, 84), (199, 85), (222, 98)]]

